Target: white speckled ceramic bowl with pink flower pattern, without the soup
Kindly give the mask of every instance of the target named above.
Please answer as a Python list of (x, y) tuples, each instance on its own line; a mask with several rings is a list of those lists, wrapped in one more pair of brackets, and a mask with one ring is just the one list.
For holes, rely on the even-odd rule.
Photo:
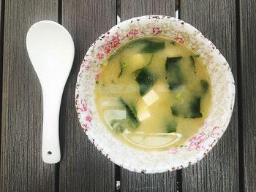
[[(145, 35), (167, 36), (186, 45), (200, 55), (211, 77), (211, 110), (203, 126), (184, 145), (164, 151), (135, 149), (113, 137), (99, 119), (94, 104), (94, 86), (102, 62), (122, 42)], [(125, 20), (97, 38), (83, 59), (75, 88), (78, 118), (90, 141), (113, 163), (143, 173), (174, 171), (200, 161), (225, 132), (234, 99), (235, 84), (230, 66), (214, 44), (183, 20), (163, 15)]]

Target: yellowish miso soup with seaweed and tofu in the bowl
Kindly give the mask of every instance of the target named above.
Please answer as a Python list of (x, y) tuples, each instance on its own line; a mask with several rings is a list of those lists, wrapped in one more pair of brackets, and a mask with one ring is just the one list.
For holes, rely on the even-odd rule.
[(203, 125), (211, 80), (200, 55), (172, 39), (146, 36), (110, 54), (94, 95), (99, 118), (122, 142), (166, 150)]

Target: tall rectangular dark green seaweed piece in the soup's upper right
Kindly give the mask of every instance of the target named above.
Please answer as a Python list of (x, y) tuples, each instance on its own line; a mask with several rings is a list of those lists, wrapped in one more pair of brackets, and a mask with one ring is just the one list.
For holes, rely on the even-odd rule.
[(183, 84), (184, 78), (181, 74), (180, 68), (181, 57), (166, 58), (165, 70), (167, 72), (167, 82), (169, 84), (170, 91), (176, 90)]

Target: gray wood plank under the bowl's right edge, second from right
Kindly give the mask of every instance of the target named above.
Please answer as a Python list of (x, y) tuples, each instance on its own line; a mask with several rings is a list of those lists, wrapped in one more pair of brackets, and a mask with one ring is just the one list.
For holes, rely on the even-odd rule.
[[(181, 19), (199, 29), (227, 59), (236, 80), (236, 1), (181, 1)], [(239, 191), (238, 108), (217, 146), (182, 171), (183, 191)]]

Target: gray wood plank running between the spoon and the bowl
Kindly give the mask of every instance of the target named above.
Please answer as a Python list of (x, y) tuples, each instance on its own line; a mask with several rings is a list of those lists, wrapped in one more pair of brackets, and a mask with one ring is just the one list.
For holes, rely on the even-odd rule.
[(116, 23), (116, 1), (62, 1), (62, 25), (75, 42), (75, 61), (61, 104), (59, 191), (114, 191), (114, 164), (83, 134), (75, 112), (75, 83), (89, 46)]

